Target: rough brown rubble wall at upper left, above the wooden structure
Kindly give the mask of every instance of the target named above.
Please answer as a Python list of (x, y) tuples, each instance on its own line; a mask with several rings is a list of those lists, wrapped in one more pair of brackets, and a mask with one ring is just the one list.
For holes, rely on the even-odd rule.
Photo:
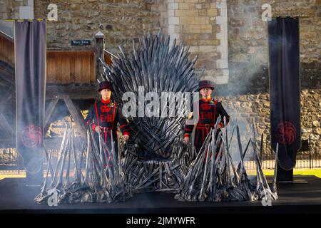
[(159, 28), (159, 13), (148, 10), (146, 0), (35, 0), (35, 17), (45, 18), (47, 6), (57, 4), (58, 21), (48, 21), (48, 47), (76, 49), (71, 40), (89, 39), (93, 48), (93, 36), (105, 34), (108, 51), (117, 52), (117, 46), (128, 48), (131, 40)]

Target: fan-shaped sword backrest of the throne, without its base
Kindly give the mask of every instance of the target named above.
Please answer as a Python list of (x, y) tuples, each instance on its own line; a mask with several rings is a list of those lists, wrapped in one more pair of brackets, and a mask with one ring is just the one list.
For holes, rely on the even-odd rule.
[[(176, 39), (170, 46), (170, 36), (165, 38), (161, 32), (156, 36), (149, 34), (139, 38), (139, 43), (133, 41), (133, 50), (128, 53), (118, 46), (121, 54), (118, 58), (112, 57), (111, 67), (101, 61), (104, 70), (101, 79), (113, 83), (114, 100), (121, 106), (124, 105), (126, 102), (122, 100), (122, 96), (128, 91), (135, 94), (136, 98), (138, 93), (156, 92), (161, 98), (162, 92), (195, 91), (198, 83), (194, 65), (198, 57), (195, 56), (190, 61), (189, 47), (183, 46), (183, 43), (175, 44)], [(144, 107), (149, 103), (146, 100), (143, 102)], [(134, 100), (134, 103), (138, 105), (138, 100)], [(175, 110), (181, 109), (181, 104), (175, 102)], [(151, 115), (153, 111), (155, 110), (146, 110), (146, 114)], [(156, 110), (158, 117), (136, 115), (128, 118), (131, 124), (131, 140), (139, 145), (139, 157), (144, 157), (145, 160), (167, 160), (172, 155), (173, 145), (183, 135), (185, 118), (182, 115), (163, 118), (161, 111), (163, 110)]]

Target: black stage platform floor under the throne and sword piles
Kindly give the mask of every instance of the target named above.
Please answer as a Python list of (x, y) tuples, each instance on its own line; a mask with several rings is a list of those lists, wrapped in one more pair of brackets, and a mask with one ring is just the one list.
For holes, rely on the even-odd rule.
[[(271, 177), (267, 177), (271, 179)], [(279, 199), (272, 207), (257, 202), (179, 202), (170, 193), (148, 192), (126, 202), (111, 204), (61, 204), (49, 207), (36, 204), (40, 187), (26, 187), (24, 179), (0, 181), (0, 213), (320, 213), (321, 179), (295, 176), (297, 183), (279, 184)]]

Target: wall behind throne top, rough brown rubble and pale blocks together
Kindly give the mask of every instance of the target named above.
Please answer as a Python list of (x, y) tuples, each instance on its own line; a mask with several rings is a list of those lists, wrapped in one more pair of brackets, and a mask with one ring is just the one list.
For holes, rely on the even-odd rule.
[[(106, 48), (118, 52), (118, 45), (129, 48), (132, 38), (162, 29), (172, 41), (177, 38), (190, 46), (191, 58), (199, 57), (196, 68), (207, 69), (204, 76), (217, 83), (228, 81), (226, 0), (36, 0), (35, 17), (45, 18), (49, 4), (58, 6), (58, 21), (47, 24), (49, 48), (92, 48), (94, 42), (75, 47), (71, 40), (93, 40), (102, 31)], [(222, 24), (226, 24), (224, 31)], [(224, 36), (219, 38), (220, 32)], [(218, 63), (222, 58), (225, 64)]]

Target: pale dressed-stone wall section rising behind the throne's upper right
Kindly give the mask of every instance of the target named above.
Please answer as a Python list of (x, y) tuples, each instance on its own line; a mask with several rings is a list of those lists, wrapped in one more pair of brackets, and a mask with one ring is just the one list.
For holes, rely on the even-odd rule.
[[(228, 61), (228, 36), (226, 23), (226, 36), (218, 37), (223, 30), (222, 24), (227, 20), (218, 21), (223, 14), (220, 6), (225, 6), (226, 1), (213, 0), (168, 0), (167, 1), (167, 31), (171, 38), (182, 41), (185, 46), (190, 46), (190, 57), (198, 56), (196, 68), (206, 68), (204, 78), (223, 83), (228, 81), (228, 66), (219, 65), (218, 61), (225, 54)], [(227, 14), (221, 15), (226, 18)], [(219, 22), (219, 23), (218, 23)], [(226, 48), (218, 48), (223, 46)], [(226, 76), (226, 77), (224, 77)]]

